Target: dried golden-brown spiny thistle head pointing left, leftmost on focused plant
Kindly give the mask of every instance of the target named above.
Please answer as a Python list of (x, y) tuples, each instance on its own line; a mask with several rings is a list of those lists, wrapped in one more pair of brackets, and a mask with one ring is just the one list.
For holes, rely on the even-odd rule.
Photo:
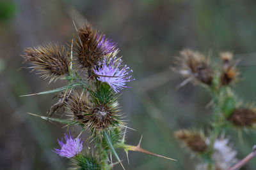
[(64, 46), (50, 43), (26, 48), (22, 57), (25, 59), (24, 62), (31, 62), (32, 71), (38, 71), (38, 74), (42, 74), (42, 78), (50, 78), (50, 82), (68, 73), (70, 59), (65, 54)]

